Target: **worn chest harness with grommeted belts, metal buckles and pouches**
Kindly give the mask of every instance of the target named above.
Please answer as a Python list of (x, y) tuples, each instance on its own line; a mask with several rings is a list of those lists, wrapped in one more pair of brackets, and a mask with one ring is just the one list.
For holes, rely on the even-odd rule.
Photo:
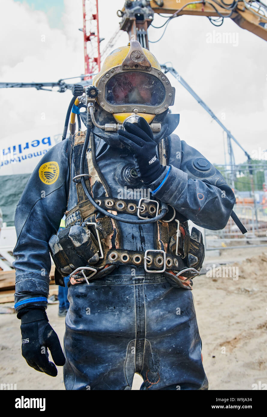
[[(81, 173), (80, 161), (85, 141), (86, 132), (82, 131), (73, 135), (71, 141), (75, 169), (73, 181), (76, 183), (78, 204), (66, 212), (65, 229), (51, 236), (49, 241), (55, 263), (56, 284), (64, 286), (63, 276), (68, 275), (71, 284), (88, 283), (91, 279), (110, 274), (116, 266), (126, 264), (144, 267), (146, 273), (162, 273), (173, 286), (191, 289), (191, 278), (199, 275), (204, 260), (201, 232), (193, 227), (190, 235), (187, 219), (172, 206), (168, 206), (168, 212), (161, 216), (164, 208), (166, 212), (167, 205), (157, 198), (114, 198), (96, 162), (93, 133), (90, 133), (88, 139)], [(176, 158), (177, 154), (181, 155), (180, 140), (177, 138), (171, 147), (171, 154), (168, 155), (168, 138), (160, 141), (159, 160), (163, 166), (172, 164), (180, 168), (181, 158)], [(100, 213), (88, 200), (84, 183), (95, 203), (113, 215), (113, 218)], [(101, 197), (94, 198), (93, 193), (100, 189)], [(119, 221), (116, 220), (120, 214), (154, 222), (153, 249), (133, 251), (122, 248)], [(153, 221), (155, 217), (162, 218)], [(127, 222), (134, 223), (136, 220), (130, 219)]]

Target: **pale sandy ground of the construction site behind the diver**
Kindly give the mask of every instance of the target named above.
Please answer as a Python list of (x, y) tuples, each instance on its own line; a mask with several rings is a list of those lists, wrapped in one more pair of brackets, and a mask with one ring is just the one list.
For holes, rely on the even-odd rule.
[[(252, 384), (267, 383), (267, 248), (227, 249), (221, 256), (208, 252), (205, 267), (219, 262), (238, 266), (238, 279), (204, 274), (194, 279), (193, 290), (209, 389), (252, 389)], [(50, 324), (62, 343), (65, 320), (57, 314), (58, 305), (48, 305)], [(1, 383), (17, 384), (17, 389), (64, 389), (62, 368), (52, 378), (21, 357), (15, 314), (0, 314), (0, 334)], [(141, 383), (136, 374), (133, 389)]]

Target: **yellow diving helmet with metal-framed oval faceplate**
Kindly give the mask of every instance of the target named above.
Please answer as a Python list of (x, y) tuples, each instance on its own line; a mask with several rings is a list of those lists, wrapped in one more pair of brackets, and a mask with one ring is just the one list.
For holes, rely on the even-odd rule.
[(93, 78), (97, 103), (117, 123), (142, 116), (151, 123), (174, 104), (175, 89), (154, 55), (137, 40), (113, 50)]

